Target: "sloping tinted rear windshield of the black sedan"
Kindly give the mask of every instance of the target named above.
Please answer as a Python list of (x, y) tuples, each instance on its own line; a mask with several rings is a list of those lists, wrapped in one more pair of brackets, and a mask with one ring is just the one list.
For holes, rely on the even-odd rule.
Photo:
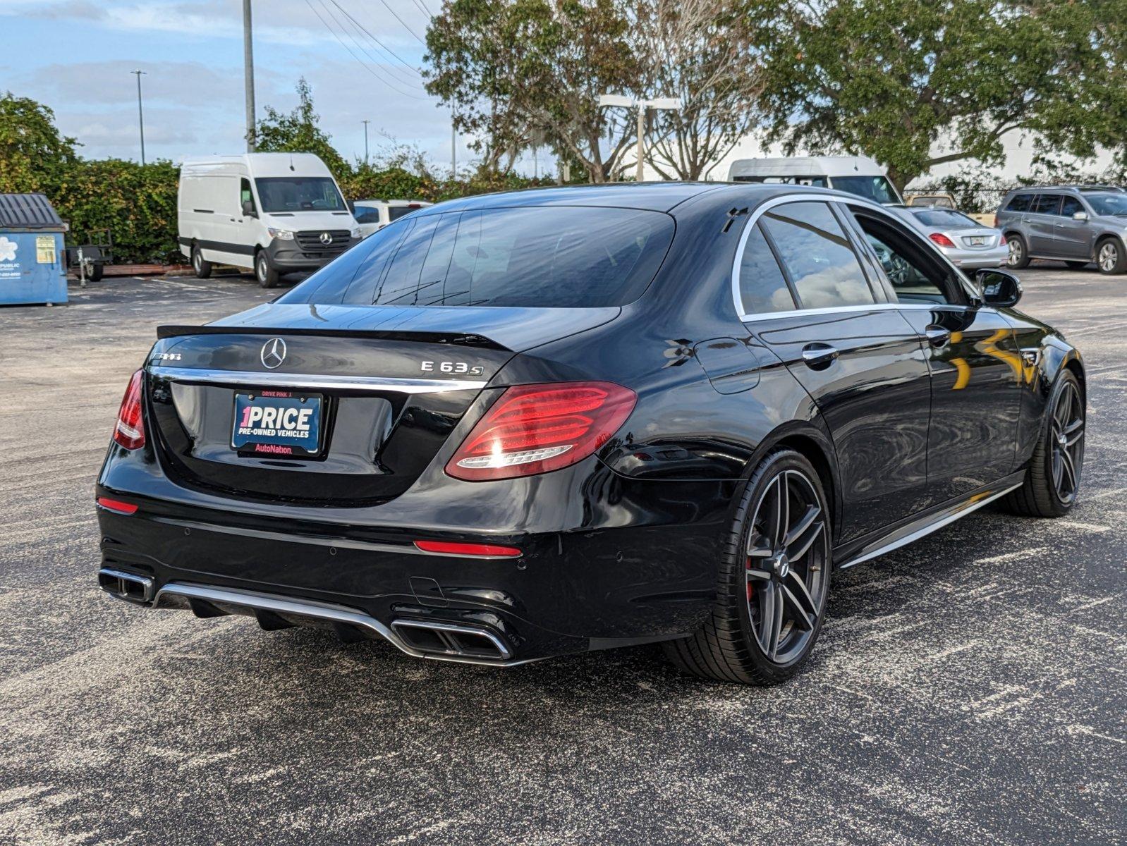
[(662, 212), (576, 206), (408, 214), (286, 303), (579, 309), (641, 296), (673, 240)]

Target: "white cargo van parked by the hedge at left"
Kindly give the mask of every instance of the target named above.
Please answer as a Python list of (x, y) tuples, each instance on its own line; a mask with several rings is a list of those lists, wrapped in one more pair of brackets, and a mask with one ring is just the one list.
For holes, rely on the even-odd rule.
[(312, 153), (186, 159), (177, 210), (180, 252), (201, 279), (212, 265), (233, 265), (272, 288), (281, 274), (316, 270), (361, 239), (340, 186)]

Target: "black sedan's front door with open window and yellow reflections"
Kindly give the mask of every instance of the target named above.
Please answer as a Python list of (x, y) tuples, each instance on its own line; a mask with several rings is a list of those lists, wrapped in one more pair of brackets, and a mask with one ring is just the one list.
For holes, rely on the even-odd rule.
[(915, 232), (868, 207), (852, 212), (926, 350), (929, 504), (997, 481), (1013, 469), (1018, 433), (1022, 368), (1012, 327), (971, 303), (958, 271)]

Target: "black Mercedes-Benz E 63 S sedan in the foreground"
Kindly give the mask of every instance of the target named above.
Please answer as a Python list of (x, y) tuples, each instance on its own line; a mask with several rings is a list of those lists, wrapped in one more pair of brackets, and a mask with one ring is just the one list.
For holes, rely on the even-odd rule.
[(987, 502), (1059, 516), (1080, 354), (853, 195), (443, 203), (166, 326), (98, 479), (101, 587), (509, 666), (649, 642), (770, 684), (833, 571)]

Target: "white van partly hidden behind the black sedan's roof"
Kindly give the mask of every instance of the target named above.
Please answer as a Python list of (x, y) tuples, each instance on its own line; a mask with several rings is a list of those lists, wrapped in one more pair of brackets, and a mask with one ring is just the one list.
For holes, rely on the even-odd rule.
[(904, 201), (887, 170), (863, 155), (791, 155), (779, 159), (737, 159), (729, 182), (767, 182), (836, 188), (882, 205)]

